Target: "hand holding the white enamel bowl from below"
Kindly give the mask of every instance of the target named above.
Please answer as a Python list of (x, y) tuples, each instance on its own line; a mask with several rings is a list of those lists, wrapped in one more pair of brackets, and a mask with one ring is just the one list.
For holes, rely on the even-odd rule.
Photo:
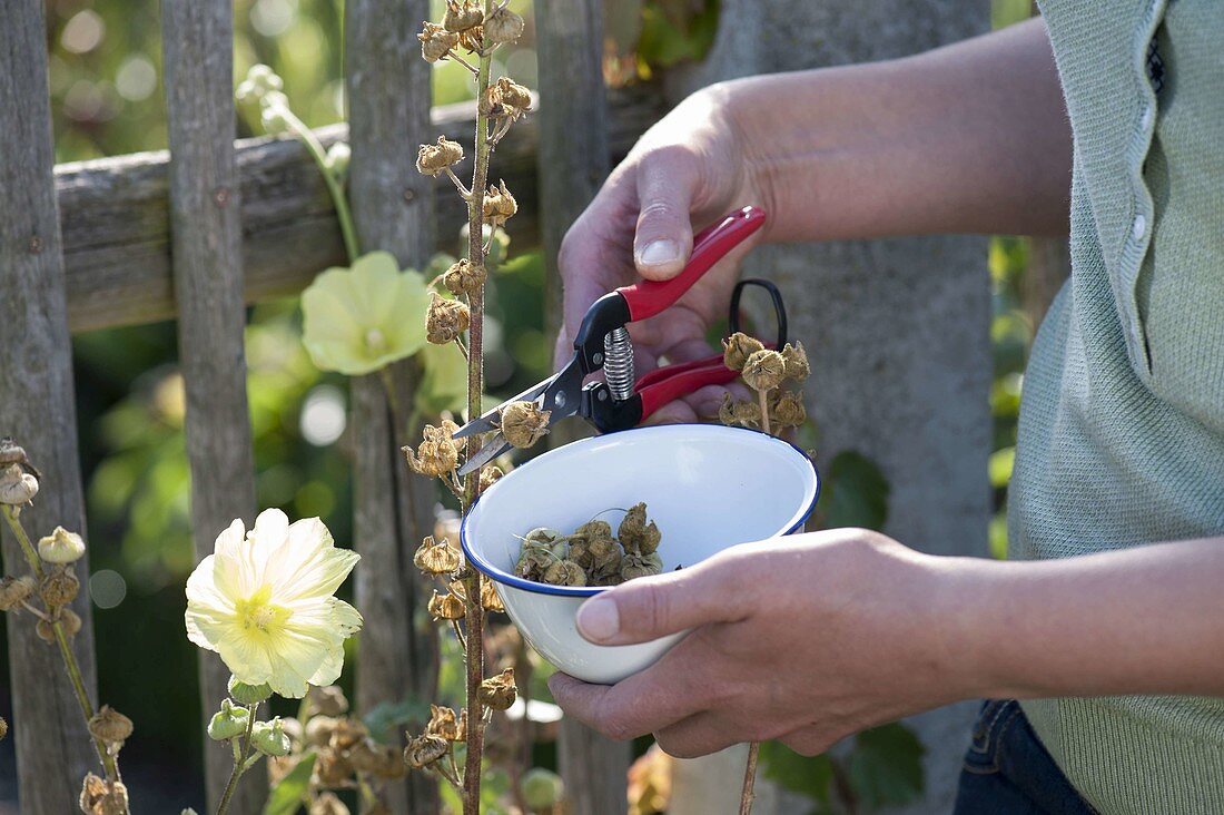
[(583, 605), (579, 629), (601, 645), (693, 630), (655, 665), (613, 686), (557, 674), (550, 688), (568, 715), (617, 739), (654, 733), (674, 756), (765, 739), (815, 755), (984, 690), (953, 646), (971, 612), (947, 613), (958, 592), (942, 563), (956, 561), (864, 529), (734, 547)]

